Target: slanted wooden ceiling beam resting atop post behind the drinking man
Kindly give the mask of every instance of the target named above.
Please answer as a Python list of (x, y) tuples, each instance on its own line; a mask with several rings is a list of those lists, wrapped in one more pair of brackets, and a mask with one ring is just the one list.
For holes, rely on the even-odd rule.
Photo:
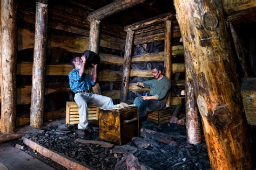
[(102, 8), (89, 13), (88, 20), (91, 19), (102, 20), (108, 16), (113, 15), (119, 11), (123, 11), (131, 8), (132, 6), (144, 3), (145, 0), (117, 0)]

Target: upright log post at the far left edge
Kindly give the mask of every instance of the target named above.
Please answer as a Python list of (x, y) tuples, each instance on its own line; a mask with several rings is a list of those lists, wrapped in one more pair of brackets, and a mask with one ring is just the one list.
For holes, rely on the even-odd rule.
[(16, 65), (17, 65), (17, 1), (1, 1), (2, 16), (2, 114), (1, 131), (15, 132), (16, 124)]

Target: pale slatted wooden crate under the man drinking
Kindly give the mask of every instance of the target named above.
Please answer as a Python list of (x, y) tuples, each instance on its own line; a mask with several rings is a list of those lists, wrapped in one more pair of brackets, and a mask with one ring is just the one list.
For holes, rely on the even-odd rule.
[[(99, 108), (93, 105), (88, 106), (87, 120), (98, 120)], [(79, 113), (76, 102), (66, 102), (66, 124), (78, 124)]]

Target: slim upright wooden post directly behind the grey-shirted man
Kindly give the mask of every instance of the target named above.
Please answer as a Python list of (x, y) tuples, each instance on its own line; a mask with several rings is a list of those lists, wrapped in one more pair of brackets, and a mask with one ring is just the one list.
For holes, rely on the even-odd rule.
[[(164, 67), (165, 67), (165, 76), (171, 81), (172, 79), (172, 45), (171, 45), (171, 36), (172, 36), (172, 21), (165, 20), (165, 38), (164, 38)], [(166, 102), (166, 107), (171, 106), (171, 94), (169, 94)]]

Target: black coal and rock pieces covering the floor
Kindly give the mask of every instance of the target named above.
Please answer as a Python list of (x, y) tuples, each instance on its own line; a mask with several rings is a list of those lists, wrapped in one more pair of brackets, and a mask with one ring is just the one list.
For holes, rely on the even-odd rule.
[[(92, 126), (92, 129), (86, 140), (101, 141), (99, 128)], [(185, 126), (167, 123), (156, 125), (147, 120), (143, 122), (142, 129), (170, 135), (172, 141), (166, 144), (142, 135), (121, 146), (83, 144), (78, 142), (77, 126), (64, 124), (47, 126), (25, 137), (96, 169), (126, 169), (129, 166), (145, 169), (211, 169), (205, 143), (188, 144)]]

